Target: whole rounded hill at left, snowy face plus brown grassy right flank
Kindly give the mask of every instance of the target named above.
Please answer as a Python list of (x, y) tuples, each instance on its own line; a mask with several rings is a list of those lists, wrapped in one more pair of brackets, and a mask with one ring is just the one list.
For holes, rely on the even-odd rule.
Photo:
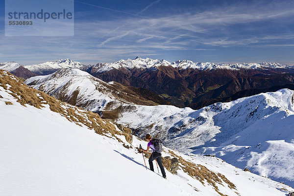
[(111, 111), (126, 104), (157, 105), (122, 84), (103, 82), (79, 69), (64, 68), (49, 75), (31, 77), (25, 83), (50, 96), (94, 112)]

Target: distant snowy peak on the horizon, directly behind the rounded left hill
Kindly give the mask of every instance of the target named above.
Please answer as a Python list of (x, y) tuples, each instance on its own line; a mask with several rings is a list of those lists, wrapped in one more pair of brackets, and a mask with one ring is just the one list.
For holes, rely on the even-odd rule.
[(49, 73), (56, 72), (63, 68), (77, 68), (82, 69), (85, 65), (82, 65), (80, 62), (76, 62), (70, 59), (61, 59), (55, 62), (46, 62), (35, 65), (26, 65), (24, 66), (29, 71), (36, 73), (38, 75), (46, 75)]

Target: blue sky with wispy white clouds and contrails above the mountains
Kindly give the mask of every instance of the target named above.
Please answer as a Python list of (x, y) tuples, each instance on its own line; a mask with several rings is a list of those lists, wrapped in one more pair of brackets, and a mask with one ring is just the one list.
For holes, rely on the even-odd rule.
[(5, 37), (0, 7), (0, 62), (294, 64), (294, 0), (75, 0), (73, 37)]

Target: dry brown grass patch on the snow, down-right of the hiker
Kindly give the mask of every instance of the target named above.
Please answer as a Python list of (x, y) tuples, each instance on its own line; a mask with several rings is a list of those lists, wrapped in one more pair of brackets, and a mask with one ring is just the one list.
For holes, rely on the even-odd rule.
[(227, 184), (227, 186), (230, 189), (236, 189), (236, 186), (230, 182), (224, 175), (222, 175), (221, 173), (215, 173), (212, 172), (210, 170), (208, 170), (205, 166), (200, 165), (200, 164), (194, 164), (191, 163), (187, 160), (184, 160), (181, 156), (176, 155), (174, 152), (172, 152), (171, 150), (169, 150), (169, 153), (178, 158), (179, 162), (180, 162), (180, 167), (183, 169), (184, 172), (188, 173), (191, 177), (199, 180), (203, 185), (205, 185), (205, 182), (207, 182), (208, 184), (210, 184), (211, 186), (214, 187), (215, 191), (220, 194), (221, 196), (224, 196), (217, 184), (220, 184), (222, 186), (223, 182)]

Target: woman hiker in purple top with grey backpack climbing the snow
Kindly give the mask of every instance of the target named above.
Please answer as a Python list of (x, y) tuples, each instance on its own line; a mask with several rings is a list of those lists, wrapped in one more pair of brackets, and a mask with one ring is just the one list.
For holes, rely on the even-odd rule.
[(147, 139), (147, 141), (149, 141), (148, 144), (147, 144), (147, 149), (145, 150), (145, 149), (141, 148), (141, 151), (147, 153), (149, 151), (149, 148), (151, 148), (151, 150), (152, 150), (152, 154), (150, 155), (150, 158), (149, 158), (150, 170), (154, 172), (153, 162), (152, 161), (154, 161), (156, 159), (157, 160), (157, 163), (159, 165), (159, 168), (161, 170), (162, 177), (167, 178), (166, 173), (164, 171), (164, 167), (162, 165), (162, 161), (161, 161), (161, 153), (158, 153), (158, 152), (155, 151), (155, 147), (152, 145), (152, 142), (151, 142), (152, 139), (151, 139), (151, 135), (150, 134), (147, 134), (145, 136), (145, 138)]

